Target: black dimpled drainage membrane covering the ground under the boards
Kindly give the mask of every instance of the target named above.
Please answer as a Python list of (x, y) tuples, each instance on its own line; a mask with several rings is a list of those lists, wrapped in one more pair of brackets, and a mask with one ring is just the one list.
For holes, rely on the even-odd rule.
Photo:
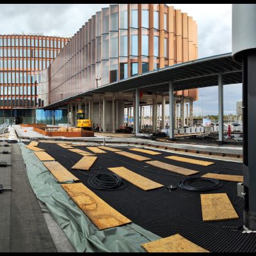
[[(38, 147), (44, 148), (46, 152), (65, 166), (72, 174), (88, 186), (88, 175), (97, 173), (109, 173), (108, 167), (124, 166), (143, 177), (154, 180), (164, 186), (177, 186), (184, 179), (179, 174), (161, 170), (150, 164), (136, 161), (134, 159), (120, 156), (115, 152), (108, 154), (97, 154), (98, 159), (90, 171), (72, 170), (71, 167), (83, 156), (70, 152), (54, 143), (39, 143)], [(86, 147), (76, 147), (86, 151)], [(120, 148), (120, 147), (116, 147)], [(132, 152), (127, 147), (122, 147), (126, 152)], [(230, 175), (243, 175), (242, 163), (225, 162), (211, 159), (215, 164), (211, 166), (197, 166), (196, 164), (182, 163), (164, 158), (164, 156), (184, 156), (163, 152), (158, 156), (150, 156), (138, 153), (141, 156), (150, 157), (153, 160), (197, 170), (200, 173), (190, 177), (200, 177), (207, 172), (220, 172)], [(67, 158), (68, 157), (68, 158)], [(186, 157), (186, 156), (184, 156)], [(200, 157), (188, 156), (193, 159), (206, 160)], [(119, 161), (118, 161), (119, 160)], [(121, 162), (123, 161), (123, 162)], [(125, 162), (125, 163), (124, 163)], [(132, 165), (131, 165), (132, 164)], [(140, 168), (144, 168), (140, 169)], [(102, 168), (102, 169), (100, 169)], [(152, 172), (150, 172), (150, 170)], [(165, 173), (168, 175), (163, 175)], [(172, 175), (177, 176), (172, 176)], [(256, 233), (242, 234), (243, 231), (243, 199), (237, 196), (237, 182), (222, 181), (223, 186), (214, 191), (201, 193), (227, 193), (230, 202), (234, 206), (239, 219), (225, 221), (202, 221), (202, 209), (200, 192), (186, 191), (177, 188), (173, 191), (158, 188), (150, 191), (142, 189), (126, 182), (124, 189), (116, 191), (100, 191), (92, 189), (102, 200), (111, 205), (137, 225), (150, 230), (161, 237), (168, 237), (179, 233), (189, 241), (198, 244), (210, 252), (256, 252)], [(198, 183), (197, 183), (198, 184)], [(200, 184), (198, 184), (200, 185)]]

